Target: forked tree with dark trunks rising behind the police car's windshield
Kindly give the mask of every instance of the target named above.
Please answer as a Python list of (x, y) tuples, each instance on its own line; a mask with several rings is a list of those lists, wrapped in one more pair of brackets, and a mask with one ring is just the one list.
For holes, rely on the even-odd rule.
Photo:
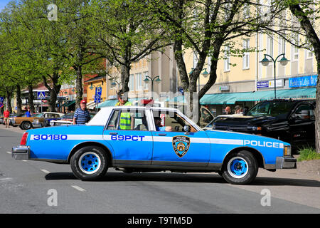
[[(250, 36), (259, 31), (261, 16), (257, 14), (256, 1), (250, 0), (203, 0), (203, 1), (149, 1), (149, 11), (152, 11), (161, 26), (169, 31), (174, 43), (174, 53), (178, 65), (182, 88), (190, 96), (188, 100), (189, 117), (198, 121), (199, 100), (214, 85), (217, 79), (218, 60), (223, 58), (222, 53), (241, 56), (243, 48), (236, 48), (237, 38)], [(264, 21), (267, 24), (272, 20)], [(221, 50), (225, 47), (225, 50)], [(183, 53), (191, 48), (198, 58), (195, 68), (189, 75)], [(251, 50), (252, 51), (252, 50)], [(206, 59), (210, 57), (210, 76), (200, 91), (198, 98), (197, 81), (205, 66)], [(193, 102), (193, 99), (196, 99)], [(194, 111), (193, 111), (194, 110)], [(196, 114), (196, 115), (195, 115)]]

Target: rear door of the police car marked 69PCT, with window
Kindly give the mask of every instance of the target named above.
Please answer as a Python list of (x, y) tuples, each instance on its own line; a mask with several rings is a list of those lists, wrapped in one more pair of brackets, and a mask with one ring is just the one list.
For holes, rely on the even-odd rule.
[(144, 110), (114, 109), (103, 133), (114, 165), (150, 165), (152, 137)]

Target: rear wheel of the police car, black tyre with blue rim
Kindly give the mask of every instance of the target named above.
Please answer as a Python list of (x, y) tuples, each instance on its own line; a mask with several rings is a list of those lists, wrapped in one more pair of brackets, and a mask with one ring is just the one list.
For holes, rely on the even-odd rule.
[(82, 147), (71, 157), (70, 165), (80, 180), (97, 180), (107, 172), (107, 155), (100, 147)]

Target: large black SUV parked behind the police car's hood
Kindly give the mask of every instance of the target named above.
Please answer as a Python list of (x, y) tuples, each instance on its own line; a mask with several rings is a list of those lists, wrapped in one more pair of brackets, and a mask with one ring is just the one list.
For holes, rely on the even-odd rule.
[(289, 142), (294, 150), (314, 146), (316, 100), (266, 100), (244, 115), (220, 115), (205, 129), (264, 135)]

